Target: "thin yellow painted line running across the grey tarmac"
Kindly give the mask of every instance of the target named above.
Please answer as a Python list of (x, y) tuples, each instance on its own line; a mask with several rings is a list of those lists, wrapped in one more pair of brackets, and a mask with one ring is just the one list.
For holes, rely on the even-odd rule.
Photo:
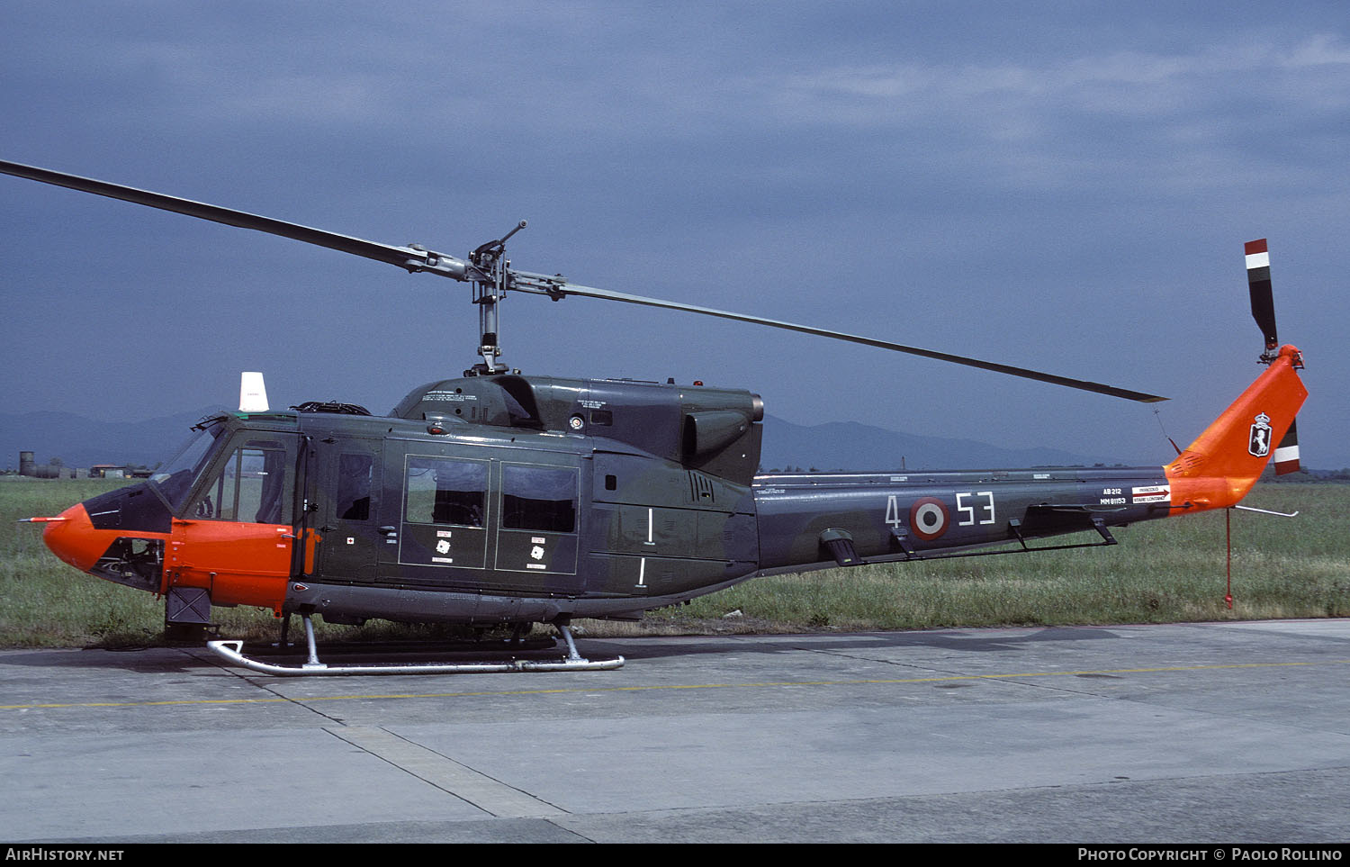
[[(574, 686), (559, 689), (481, 690), (458, 693), (352, 693), (344, 695), (296, 695), (267, 698), (180, 698), (170, 701), (88, 701), (70, 704), (0, 705), (0, 710), (50, 710), (62, 708), (157, 708), (171, 705), (274, 705), (310, 704), (320, 701), (374, 701), (401, 698), (474, 698), (483, 695), (552, 695), (567, 693), (641, 693), (656, 690), (697, 690), (697, 689), (768, 689), (783, 686), (884, 686), (905, 683), (942, 683), (950, 681), (1010, 681), (1021, 678), (1062, 678), (1089, 674), (1166, 674), (1176, 671), (1220, 671), (1224, 668), (1281, 668), (1305, 666), (1339, 666), (1350, 659), (1323, 659), (1318, 662), (1250, 662), (1224, 663), (1214, 666), (1166, 666), (1158, 668), (1099, 668), (1083, 671), (1025, 671), (1013, 674), (946, 674), (926, 678), (863, 678), (852, 681), (759, 681), (745, 683), (670, 683), (645, 686)], [(473, 677), (473, 675), (464, 675)], [(289, 678), (282, 678), (285, 682)]]

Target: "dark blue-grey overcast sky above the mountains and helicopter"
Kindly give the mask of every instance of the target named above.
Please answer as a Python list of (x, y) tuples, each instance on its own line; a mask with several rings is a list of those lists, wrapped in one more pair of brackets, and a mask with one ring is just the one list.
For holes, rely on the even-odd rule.
[[(1343, 3), (0, 5), (0, 158), (1166, 394), (1153, 406), (752, 325), (512, 296), (525, 373), (742, 386), (1165, 462), (1257, 373), (1269, 236), (1304, 463), (1350, 466)], [(1158, 11), (1153, 11), (1158, 9)], [(386, 411), (474, 362), (463, 284), (0, 177), (0, 405)]]

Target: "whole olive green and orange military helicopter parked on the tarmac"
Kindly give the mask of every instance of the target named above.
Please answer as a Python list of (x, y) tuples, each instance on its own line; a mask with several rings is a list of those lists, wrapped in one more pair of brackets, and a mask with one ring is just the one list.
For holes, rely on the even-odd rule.
[[(144, 483), (45, 523), (66, 563), (165, 597), (167, 625), (213, 606), (300, 614), (301, 666), (209, 646), (270, 674), (614, 668), (576, 651), (575, 617), (643, 612), (776, 573), (1110, 546), (1112, 527), (1237, 505), (1274, 456), (1297, 469), (1303, 358), (1280, 346), (1264, 240), (1247, 244), (1268, 369), (1166, 466), (759, 475), (764, 405), (742, 389), (521, 375), (501, 361), (509, 292), (662, 307), (848, 340), (1142, 402), (1158, 396), (973, 358), (521, 271), (505, 257), (525, 223), (460, 259), (162, 193), (0, 162), (0, 173), (173, 211), (468, 282), (479, 361), (420, 385), (386, 415), (266, 404), (244, 374), (238, 412), (204, 419)], [(1272, 447), (1273, 443), (1278, 447)], [(1088, 531), (1091, 542), (1031, 544)], [(560, 660), (328, 666), (312, 617), (558, 628)]]

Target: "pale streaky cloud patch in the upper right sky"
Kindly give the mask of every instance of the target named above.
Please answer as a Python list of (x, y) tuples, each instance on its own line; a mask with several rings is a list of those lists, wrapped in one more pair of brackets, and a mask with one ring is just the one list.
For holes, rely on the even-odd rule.
[(1192, 196), (1250, 172), (1253, 150), (1262, 151), (1260, 170), (1282, 182), (1291, 174), (1319, 182), (1296, 158), (1254, 149), (1251, 139), (1282, 123), (1343, 116), (1346, 66), (1350, 49), (1338, 35), (1272, 43), (1251, 32), (1176, 54), (829, 65), (755, 74), (744, 89), (774, 107), (784, 128), (887, 138), (919, 176), (968, 170), (1007, 190), (1094, 184), (1126, 194), (1149, 176), (1153, 193)]

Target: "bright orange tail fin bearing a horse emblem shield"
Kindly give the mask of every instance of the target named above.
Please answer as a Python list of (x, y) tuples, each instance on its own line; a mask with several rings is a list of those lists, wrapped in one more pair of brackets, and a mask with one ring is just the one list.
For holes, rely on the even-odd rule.
[[(1278, 443), (1303, 406), (1308, 390), (1295, 373), (1299, 350), (1280, 348), (1280, 357), (1233, 405), (1223, 411), (1164, 471), (1172, 485), (1172, 505), (1191, 510), (1237, 505), (1265, 470)], [(1253, 455), (1253, 424), (1265, 416), (1270, 429), (1262, 436), (1266, 454)]]

